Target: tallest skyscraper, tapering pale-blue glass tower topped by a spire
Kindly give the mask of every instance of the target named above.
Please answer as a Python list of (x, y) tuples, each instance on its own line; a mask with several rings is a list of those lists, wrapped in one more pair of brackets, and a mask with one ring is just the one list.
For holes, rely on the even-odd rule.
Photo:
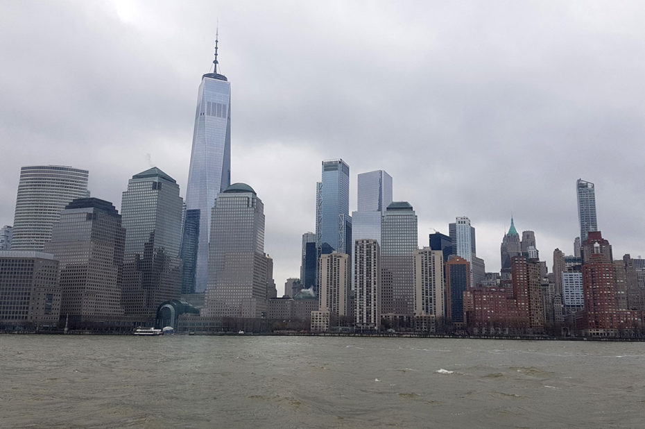
[[(217, 70), (217, 40), (212, 73), (202, 76), (197, 94), (186, 206), (199, 210), (199, 239), (194, 271), (195, 292), (208, 283), (208, 240), (215, 199), (231, 183), (231, 84)], [(191, 247), (192, 249), (192, 247)], [(194, 257), (191, 257), (194, 258)]]

